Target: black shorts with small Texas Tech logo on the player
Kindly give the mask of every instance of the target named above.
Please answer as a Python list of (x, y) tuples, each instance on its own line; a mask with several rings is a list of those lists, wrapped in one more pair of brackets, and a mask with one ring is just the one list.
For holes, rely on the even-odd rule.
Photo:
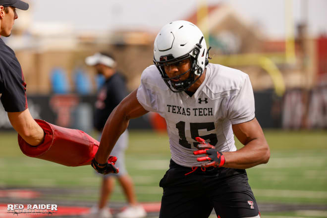
[[(259, 210), (244, 169), (198, 167), (194, 172), (170, 160), (160, 181), (160, 218), (220, 218), (258, 216)], [(187, 174), (189, 173), (189, 174)], [(187, 174), (187, 175), (185, 175)], [(218, 217), (219, 218), (219, 217)]]

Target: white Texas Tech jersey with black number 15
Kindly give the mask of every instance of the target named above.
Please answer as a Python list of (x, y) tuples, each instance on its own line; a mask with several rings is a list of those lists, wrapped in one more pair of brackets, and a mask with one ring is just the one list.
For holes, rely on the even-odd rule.
[(236, 151), (231, 124), (252, 120), (254, 96), (249, 76), (240, 70), (209, 63), (206, 78), (192, 97), (173, 93), (155, 65), (141, 76), (137, 99), (167, 123), (171, 159), (182, 166), (200, 166), (193, 155), (201, 137), (220, 152)]

